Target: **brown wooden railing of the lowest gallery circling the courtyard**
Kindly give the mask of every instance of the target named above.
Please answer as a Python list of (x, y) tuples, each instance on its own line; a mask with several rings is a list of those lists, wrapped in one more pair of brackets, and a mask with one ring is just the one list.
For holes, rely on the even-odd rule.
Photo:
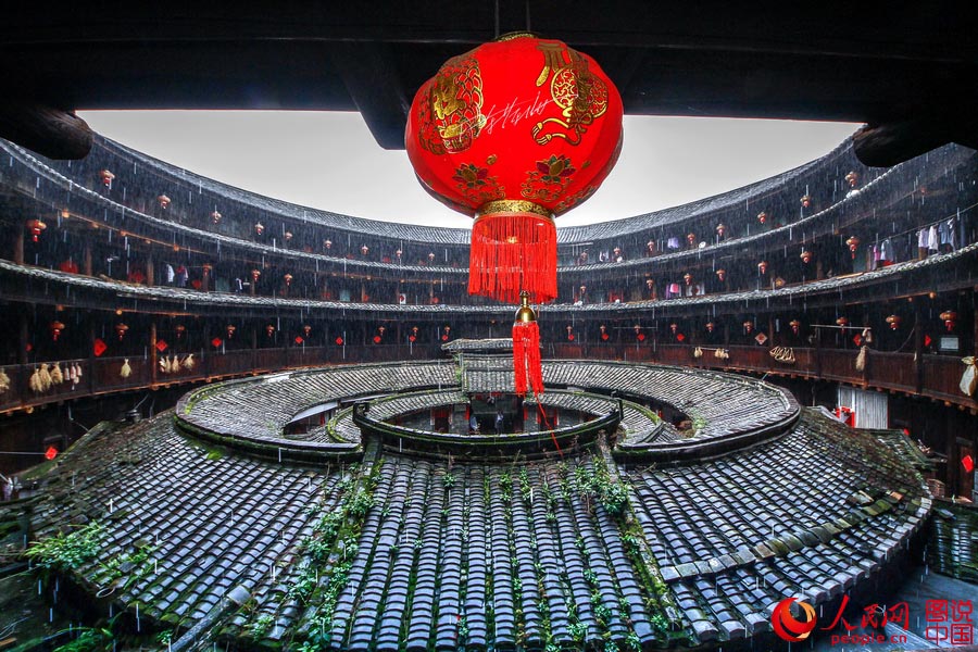
[[(839, 383), (918, 394), (978, 411), (978, 402), (958, 389), (964, 365), (956, 355), (923, 355), (919, 363), (913, 353), (869, 351), (866, 365), (856, 369), (855, 349), (794, 349), (795, 361), (786, 364), (774, 360), (766, 347), (727, 348), (729, 358), (718, 359), (712, 349), (701, 358), (693, 356), (694, 347), (656, 344), (651, 341), (631, 344), (559, 343), (546, 344), (548, 359), (597, 359), (655, 362), (678, 366), (750, 372), (801, 378), (822, 378)], [(379, 344), (371, 347), (290, 347), (242, 349), (226, 352), (199, 351), (193, 355), (192, 368), (181, 367), (164, 374), (154, 368), (151, 358), (97, 358), (48, 363), (65, 369), (77, 365), (82, 377), (75, 383), (51, 386), (46, 391), (30, 388), (30, 376), (39, 364), (0, 366), (10, 378), (9, 387), (0, 392), (0, 412), (21, 410), (47, 403), (95, 397), (104, 393), (168, 387), (172, 385), (210, 381), (278, 369), (355, 364), (362, 362), (397, 362), (430, 360), (443, 356), (437, 344)], [(129, 373), (122, 368), (128, 360)], [(64, 374), (67, 377), (67, 374)]]

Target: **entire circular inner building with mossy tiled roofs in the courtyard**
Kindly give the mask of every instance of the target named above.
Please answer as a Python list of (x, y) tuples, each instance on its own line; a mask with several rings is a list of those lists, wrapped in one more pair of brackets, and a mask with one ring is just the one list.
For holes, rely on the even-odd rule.
[(421, 652), (767, 649), (930, 513), (905, 438), (772, 385), (561, 360), (523, 401), (498, 344), (203, 386), (85, 436), (32, 519), (92, 532), (73, 590), (174, 643)]

